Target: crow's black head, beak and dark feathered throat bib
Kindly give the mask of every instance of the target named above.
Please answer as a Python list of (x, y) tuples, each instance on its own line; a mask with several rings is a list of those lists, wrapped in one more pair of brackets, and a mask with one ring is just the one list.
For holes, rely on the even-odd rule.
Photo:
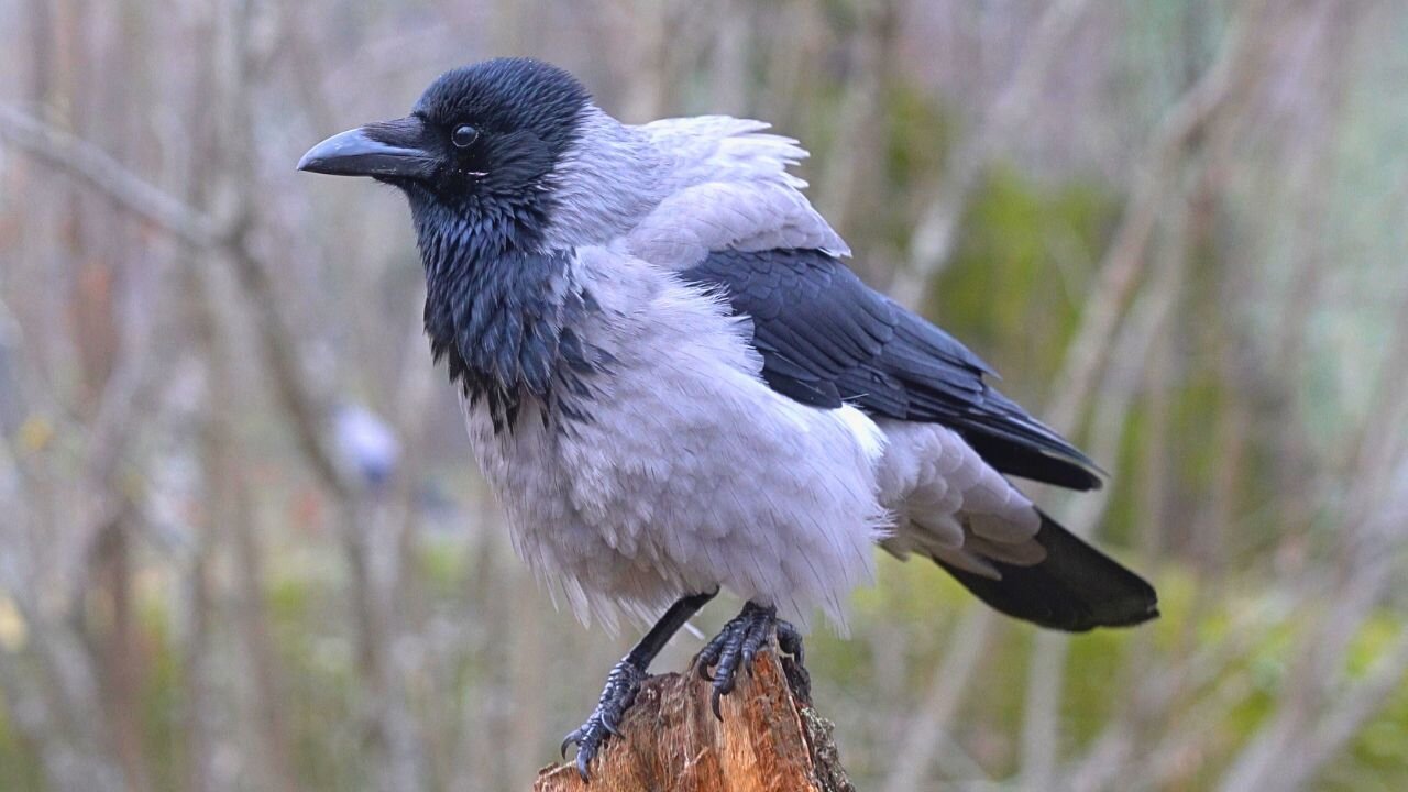
[[(313, 147), (300, 171), (372, 176), (411, 203), (425, 266), (425, 331), (496, 431), (524, 399), (546, 403), (559, 361), (589, 365), (563, 323), (584, 310), (553, 289), (565, 251), (542, 249), (553, 197), (545, 176), (582, 134), (591, 97), (567, 72), (500, 58), (439, 76), (406, 118)], [(570, 368), (570, 366), (569, 366)]]

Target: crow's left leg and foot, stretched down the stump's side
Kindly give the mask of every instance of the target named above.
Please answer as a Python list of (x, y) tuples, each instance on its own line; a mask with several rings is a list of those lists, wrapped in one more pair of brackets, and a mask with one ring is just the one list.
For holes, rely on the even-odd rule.
[(641, 638), (641, 643), (621, 658), (621, 662), (615, 664), (615, 668), (607, 675), (607, 686), (601, 691), (596, 712), (562, 741), (562, 755), (565, 757), (567, 745), (577, 745), (577, 774), (582, 775), (583, 781), (587, 781), (587, 765), (591, 764), (607, 736), (621, 736), (621, 717), (635, 703), (635, 695), (641, 691), (641, 682), (645, 681), (645, 671), (650, 667), (650, 661), (660, 654), (670, 637), (717, 593), (718, 589), (714, 589), (710, 593), (681, 598), (672, 605), (665, 616), (655, 623), (655, 627), (650, 627), (650, 631)]

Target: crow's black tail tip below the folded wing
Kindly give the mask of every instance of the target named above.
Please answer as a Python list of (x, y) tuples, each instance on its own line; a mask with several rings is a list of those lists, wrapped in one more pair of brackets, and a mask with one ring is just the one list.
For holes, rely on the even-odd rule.
[(1053, 630), (1128, 627), (1159, 616), (1153, 586), (1046, 514), (1036, 543), (1046, 548), (1046, 559), (1033, 567), (990, 559), (1001, 581), (935, 561), (983, 602)]

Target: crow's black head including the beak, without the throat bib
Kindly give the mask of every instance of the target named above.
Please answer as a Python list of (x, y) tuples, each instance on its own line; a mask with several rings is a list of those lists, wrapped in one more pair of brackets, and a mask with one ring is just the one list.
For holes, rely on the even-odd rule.
[(406, 118), (334, 135), (300, 171), (372, 176), (442, 204), (527, 199), (577, 138), (587, 90), (529, 58), (496, 58), (439, 76)]

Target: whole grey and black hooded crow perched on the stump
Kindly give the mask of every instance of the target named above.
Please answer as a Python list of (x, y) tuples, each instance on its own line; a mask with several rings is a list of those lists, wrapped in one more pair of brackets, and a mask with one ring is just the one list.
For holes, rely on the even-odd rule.
[(745, 605), (698, 655), (715, 714), (770, 641), (800, 661), (818, 610), (845, 627), (876, 545), (1041, 627), (1159, 614), (1012, 481), (1104, 471), (848, 268), (769, 128), (621, 123), (570, 72), (496, 58), (298, 162), (404, 193), (431, 357), (517, 554), (582, 621), (648, 627), (563, 741), (583, 779), (719, 590)]

